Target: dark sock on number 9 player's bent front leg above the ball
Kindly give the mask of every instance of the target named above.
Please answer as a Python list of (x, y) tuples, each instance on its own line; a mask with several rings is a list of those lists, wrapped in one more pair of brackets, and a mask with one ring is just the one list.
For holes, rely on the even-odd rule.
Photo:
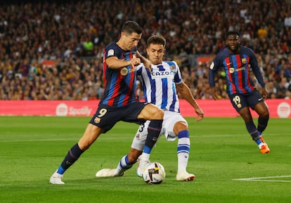
[[(157, 138), (160, 136), (162, 130), (162, 119), (161, 120), (152, 120), (148, 125), (148, 137), (145, 140), (145, 147), (143, 147), (143, 154), (150, 154), (155, 143), (157, 142)], [(150, 155), (148, 155), (149, 157)]]

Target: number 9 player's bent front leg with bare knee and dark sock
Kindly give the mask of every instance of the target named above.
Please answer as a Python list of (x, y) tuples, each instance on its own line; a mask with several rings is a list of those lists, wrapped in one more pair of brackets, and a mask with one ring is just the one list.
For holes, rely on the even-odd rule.
[(153, 104), (147, 104), (138, 114), (138, 118), (150, 120), (148, 125), (148, 136), (145, 140), (145, 147), (143, 148), (143, 159), (150, 159), (150, 152), (155, 146), (158, 137), (160, 136), (160, 132), (162, 130), (162, 121), (164, 117), (164, 111), (162, 109), (157, 108), (157, 106)]

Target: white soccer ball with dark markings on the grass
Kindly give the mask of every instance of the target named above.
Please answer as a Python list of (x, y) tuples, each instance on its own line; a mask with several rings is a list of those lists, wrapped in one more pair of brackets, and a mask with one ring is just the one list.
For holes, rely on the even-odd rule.
[(143, 180), (148, 184), (160, 184), (166, 178), (164, 166), (157, 162), (149, 163), (145, 166), (143, 171)]

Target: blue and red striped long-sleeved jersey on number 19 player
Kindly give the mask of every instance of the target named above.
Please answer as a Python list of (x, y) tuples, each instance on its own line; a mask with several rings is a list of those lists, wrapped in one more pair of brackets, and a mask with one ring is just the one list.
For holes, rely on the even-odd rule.
[(250, 77), (252, 71), (261, 87), (265, 87), (263, 76), (258, 66), (257, 58), (252, 49), (240, 46), (238, 54), (231, 54), (229, 49), (224, 49), (217, 54), (209, 68), (209, 85), (215, 86), (214, 73), (224, 68), (226, 73), (226, 91), (228, 94), (247, 94), (252, 92), (254, 81)]

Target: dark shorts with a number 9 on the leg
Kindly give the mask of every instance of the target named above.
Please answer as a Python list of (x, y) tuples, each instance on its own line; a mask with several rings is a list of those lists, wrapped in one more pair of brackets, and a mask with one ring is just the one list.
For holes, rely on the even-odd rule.
[(138, 119), (137, 116), (141, 110), (149, 103), (134, 102), (122, 107), (112, 107), (104, 104), (99, 104), (98, 109), (89, 123), (98, 126), (106, 133), (118, 121), (129, 123), (143, 124), (143, 119)]

